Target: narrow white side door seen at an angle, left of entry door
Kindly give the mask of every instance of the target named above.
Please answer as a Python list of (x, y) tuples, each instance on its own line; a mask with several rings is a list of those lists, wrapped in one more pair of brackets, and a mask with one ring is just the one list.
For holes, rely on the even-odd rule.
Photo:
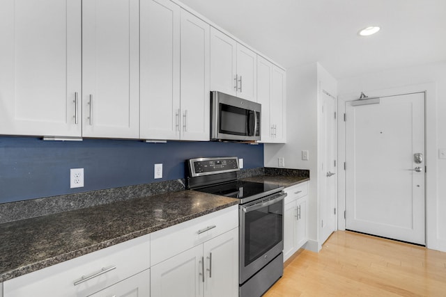
[(322, 122), (321, 122), (321, 225), (320, 240), (323, 243), (328, 236), (337, 230), (336, 202), (337, 202), (337, 167), (336, 167), (336, 99), (322, 93)]

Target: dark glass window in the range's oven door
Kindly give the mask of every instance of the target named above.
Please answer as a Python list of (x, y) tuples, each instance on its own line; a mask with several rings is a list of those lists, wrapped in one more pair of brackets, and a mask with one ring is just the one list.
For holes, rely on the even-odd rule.
[(245, 213), (245, 266), (283, 239), (284, 200)]

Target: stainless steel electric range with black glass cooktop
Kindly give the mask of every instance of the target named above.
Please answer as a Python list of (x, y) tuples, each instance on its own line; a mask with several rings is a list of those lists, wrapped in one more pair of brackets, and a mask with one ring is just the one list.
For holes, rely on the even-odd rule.
[(239, 181), (236, 156), (189, 159), (186, 168), (187, 188), (240, 199), (239, 296), (261, 296), (284, 271), (284, 187)]

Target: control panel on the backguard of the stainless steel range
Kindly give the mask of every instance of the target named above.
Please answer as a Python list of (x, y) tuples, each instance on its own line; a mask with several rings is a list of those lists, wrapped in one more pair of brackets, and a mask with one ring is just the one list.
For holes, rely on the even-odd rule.
[(236, 156), (221, 158), (197, 158), (190, 159), (188, 162), (191, 177), (240, 170), (238, 168), (238, 158)]

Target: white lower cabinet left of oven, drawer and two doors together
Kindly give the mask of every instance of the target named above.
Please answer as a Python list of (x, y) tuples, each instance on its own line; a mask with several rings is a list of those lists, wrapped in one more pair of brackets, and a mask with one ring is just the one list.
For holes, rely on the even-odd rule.
[(153, 233), (151, 296), (238, 296), (238, 205)]

